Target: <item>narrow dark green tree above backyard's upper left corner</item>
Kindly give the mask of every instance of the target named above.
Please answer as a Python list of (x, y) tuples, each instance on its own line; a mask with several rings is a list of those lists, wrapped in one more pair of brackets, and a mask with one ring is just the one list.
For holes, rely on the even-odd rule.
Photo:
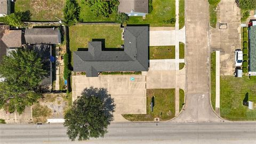
[(75, 25), (79, 21), (79, 13), (81, 7), (76, 0), (66, 0), (66, 5), (63, 9), (64, 19), (68, 26)]

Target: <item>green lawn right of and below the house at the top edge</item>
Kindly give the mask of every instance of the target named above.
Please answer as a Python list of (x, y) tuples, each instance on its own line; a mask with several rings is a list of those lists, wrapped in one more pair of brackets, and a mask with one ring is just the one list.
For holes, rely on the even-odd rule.
[(174, 27), (174, 24), (167, 23), (166, 20), (175, 18), (175, 1), (153, 0), (153, 11), (142, 17), (130, 17), (129, 24), (150, 24), (151, 27)]

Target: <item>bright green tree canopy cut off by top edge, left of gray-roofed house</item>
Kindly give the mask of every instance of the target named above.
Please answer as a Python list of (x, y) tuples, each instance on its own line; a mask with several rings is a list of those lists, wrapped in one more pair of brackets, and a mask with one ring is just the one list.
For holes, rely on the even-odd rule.
[(109, 17), (109, 14), (117, 12), (119, 1), (87, 0), (87, 5), (90, 6), (91, 11), (97, 17)]

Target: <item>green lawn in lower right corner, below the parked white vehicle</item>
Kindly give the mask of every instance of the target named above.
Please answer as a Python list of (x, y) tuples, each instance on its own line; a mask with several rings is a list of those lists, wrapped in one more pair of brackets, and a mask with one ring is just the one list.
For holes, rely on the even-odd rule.
[[(256, 120), (256, 77), (220, 77), (220, 115), (232, 121)], [(249, 97), (246, 98), (246, 95)], [(254, 102), (254, 110), (242, 105), (247, 99)]]

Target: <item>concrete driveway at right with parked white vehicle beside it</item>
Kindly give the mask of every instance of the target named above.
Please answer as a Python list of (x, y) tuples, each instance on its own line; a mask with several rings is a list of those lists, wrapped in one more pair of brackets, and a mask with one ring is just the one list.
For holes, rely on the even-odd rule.
[[(240, 9), (235, 1), (220, 1), (218, 6), (218, 23), (210, 30), (212, 51), (220, 51), (220, 75), (233, 75), (235, 71), (236, 49), (241, 47)], [(227, 29), (219, 29), (219, 23), (227, 23)]]

